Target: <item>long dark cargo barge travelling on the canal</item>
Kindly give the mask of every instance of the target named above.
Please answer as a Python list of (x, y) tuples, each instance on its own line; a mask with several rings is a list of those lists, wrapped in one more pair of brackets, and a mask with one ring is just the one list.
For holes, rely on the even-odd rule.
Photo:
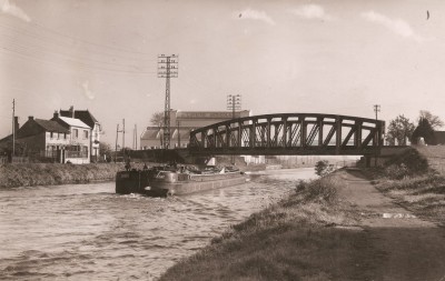
[(116, 193), (140, 193), (150, 197), (182, 195), (245, 183), (247, 177), (236, 168), (171, 169), (120, 171), (116, 174)]

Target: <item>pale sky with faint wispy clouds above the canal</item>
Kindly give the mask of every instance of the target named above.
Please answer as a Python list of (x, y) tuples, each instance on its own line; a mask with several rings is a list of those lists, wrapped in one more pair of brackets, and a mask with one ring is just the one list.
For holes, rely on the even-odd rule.
[(0, 138), (88, 109), (126, 144), (164, 111), (157, 58), (177, 54), (171, 109), (445, 120), (443, 0), (0, 0)]

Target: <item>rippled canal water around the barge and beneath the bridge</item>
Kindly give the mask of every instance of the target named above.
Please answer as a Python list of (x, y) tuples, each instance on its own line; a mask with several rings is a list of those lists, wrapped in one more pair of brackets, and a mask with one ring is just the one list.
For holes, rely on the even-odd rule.
[(115, 183), (0, 191), (0, 280), (154, 280), (314, 169), (265, 171), (236, 187), (167, 199)]

